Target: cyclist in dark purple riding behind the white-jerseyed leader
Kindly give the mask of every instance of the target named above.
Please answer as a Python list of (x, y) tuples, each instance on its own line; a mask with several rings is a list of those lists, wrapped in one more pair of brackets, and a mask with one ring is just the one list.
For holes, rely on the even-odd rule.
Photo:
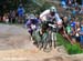
[(34, 14), (29, 16), (29, 20), (27, 21), (25, 27), (28, 28), (28, 31), (31, 35), (33, 31), (38, 29), (39, 22), (39, 19), (37, 19)]

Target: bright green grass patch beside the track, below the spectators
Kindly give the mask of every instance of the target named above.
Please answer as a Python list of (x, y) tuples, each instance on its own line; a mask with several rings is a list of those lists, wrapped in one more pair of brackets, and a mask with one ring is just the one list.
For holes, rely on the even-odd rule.
[(77, 54), (83, 53), (83, 50), (80, 48), (80, 44), (71, 44), (68, 40), (65, 40), (61, 34), (58, 34), (58, 43), (60, 45), (64, 45), (65, 50), (69, 54)]

